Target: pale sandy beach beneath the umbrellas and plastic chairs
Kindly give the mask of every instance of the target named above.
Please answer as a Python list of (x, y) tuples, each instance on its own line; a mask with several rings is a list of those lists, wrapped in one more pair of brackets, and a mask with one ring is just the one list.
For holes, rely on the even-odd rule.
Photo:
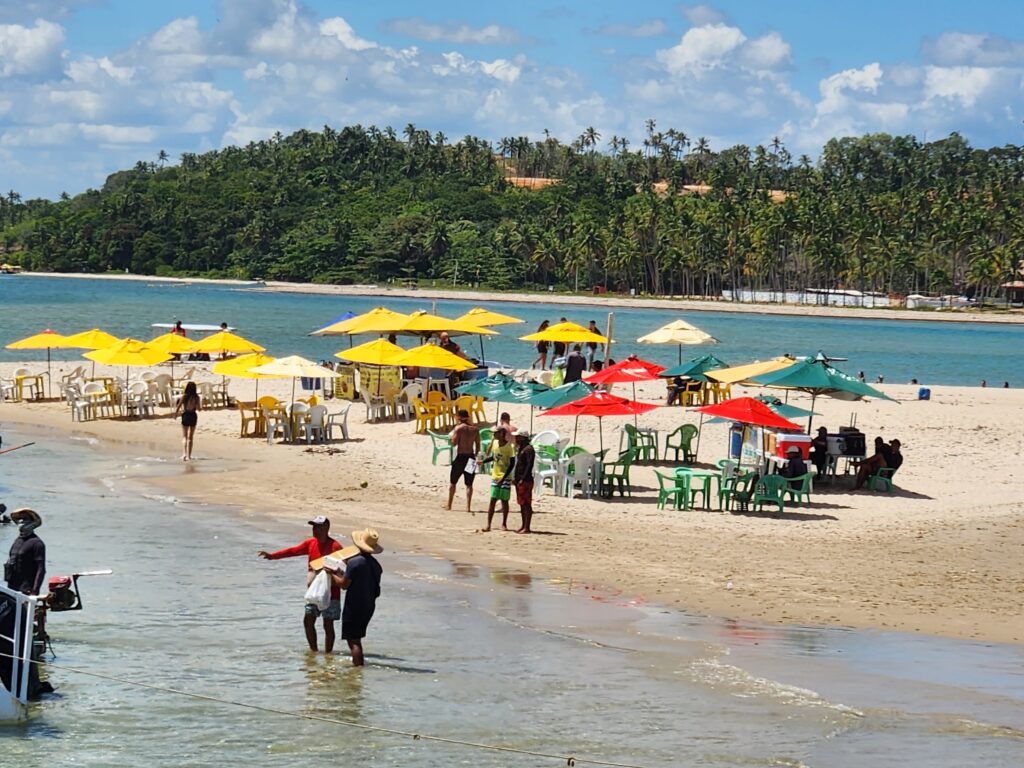
[[(15, 367), (0, 366), (0, 376), (9, 377)], [(58, 369), (70, 368), (55, 366), (54, 379)], [(201, 369), (197, 376), (208, 374)], [(252, 399), (253, 386), (232, 380), (230, 391)], [(263, 381), (260, 394), (287, 397), (290, 387), (288, 381)], [(653, 469), (640, 466), (632, 499), (541, 496), (532, 536), (475, 532), (484, 521), (483, 478), (477, 480), (476, 513), (466, 513), (461, 486), (455, 510), (442, 509), (449, 470), (431, 465), (429, 438), (416, 435), (412, 422), (365, 423), (361, 403), (349, 415), (351, 440), (311, 447), (240, 439), (238, 411), (204, 411), (190, 463), (178, 459), (180, 427), (166, 410), (150, 419), (72, 422), (63, 402), (6, 402), (0, 403), (0, 422), (95, 435), (114, 446), (144, 445), (180, 466), (172, 477), (154, 480), (179, 498), (231, 500), (238, 513), (296, 520), (329, 514), (335, 532), (372, 525), (387, 548), (521, 568), (584, 592), (602, 587), (620, 599), (773, 624), (1024, 642), (1024, 478), (1018, 466), (1024, 432), (1015, 426), (1024, 390), (932, 387), (932, 399), (918, 401), (915, 387), (881, 388), (901, 402), (819, 398), (815, 425), (835, 429), (855, 416), (869, 441), (876, 434), (900, 438), (906, 461), (892, 495), (819, 484), (809, 507), (787, 507), (780, 518), (659, 510)], [(638, 395), (659, 400), (664, 385), (642, 385)], [(807, 407), (809, 398), (791, 395), (791, 402)], [(528, 425), (528, 409), (502, 409), (517, 426)], [(488, 416), (494, 412), (488, 406)], [(641, 419), (659, 429), (664, 441), (697, 415), (663, 408)], [(605, 446), (617, 447), (624, 423), (605, 420)], [(535, 418), (535, 431), (544, 428), (571, 436), (572, 420)], [(597, 422), (582, 420), (575, 441), (596, 450)], [(726, 426), (705, 426), (700, 463), (713, 465), (725, 449)], [(518, 522), (513, 511), (509, 527)], [(254, 556), (266, 546), (253, 542)]]

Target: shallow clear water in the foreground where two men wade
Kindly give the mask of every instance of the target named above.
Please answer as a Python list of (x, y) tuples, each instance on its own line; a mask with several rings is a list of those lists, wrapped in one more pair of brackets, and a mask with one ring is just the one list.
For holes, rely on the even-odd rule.
[[(305, 650), (304, 564), (256, 558), (306, 526), (147, 484), (186, 487), (230, 460), (182, 465), (144, 442), (24, 428), (4, 438), (36, 441), (0, 458), (0, 485), (8, 506), (43, 514), (49, 572), (114, 574), (83, 579), (85, 610), (51, 617), (68, 669), (50, 671), (57, 695), (28, 724), (0, 727), (0, 766), (565, 764), (358, 726), (579, 765), (1021, 765), (1020, 646), (688, 615), (557, 574), (390, 550), (355, 670)], [(0, 527), (0, 549), (12, 536)]]

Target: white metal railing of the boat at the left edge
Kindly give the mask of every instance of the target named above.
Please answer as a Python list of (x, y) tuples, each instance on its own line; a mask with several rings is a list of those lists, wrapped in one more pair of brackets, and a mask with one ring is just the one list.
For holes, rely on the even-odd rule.
[(29, 716), (29, 671), (39, 598), (0, 585), (0, 723)]

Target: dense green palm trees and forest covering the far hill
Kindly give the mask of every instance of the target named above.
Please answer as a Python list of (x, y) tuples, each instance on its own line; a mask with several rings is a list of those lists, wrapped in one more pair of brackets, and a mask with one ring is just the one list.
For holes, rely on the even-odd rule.
[[(833, 139), (817, 164), (714, 153), (658, 132), (639, 150), (413, 125), (298, 131), (176, 166), (138, 163), (56, 202), (0, 198), (3, 258), (37, 270), (322, 283), (432, 279), (492, 289), (719, 296), (855, 288), (995, 295), (1024, 241), (1024, 152)], [(557, 183), (520, 188), (510, 177)]]

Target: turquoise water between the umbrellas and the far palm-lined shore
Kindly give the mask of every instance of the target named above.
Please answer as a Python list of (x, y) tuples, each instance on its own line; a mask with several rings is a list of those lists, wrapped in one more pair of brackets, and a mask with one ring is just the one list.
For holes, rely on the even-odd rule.
[[(0, 345), (49, 327), (71, 334), (93, 327), (117, 336), (150, 339), (163, 333), (154, 323), (218, 325), (226, 322), (248, 338), (268, 348), (270, 354), (302, 354), (312, 359), (331, 356), (349, 345), (349, 339), (310, 337), (339, 314), (362, 312), (384, 304), (398, 311), (416, 309), (456, 316), (477, 305), (471, 295), (463, 301), (400, 299), (390, 296), (333, 297), (274, 293), (263, 288), (185, 283), (145, 283), (94, 279), (54, 279), (0, 275)], [(607, 308), (544, 304), (496, 303), (499, 311), (526, 321), (499, 327), (501, 335), (485, 342), (486, 358), (525, 368), (536, 355), (532, 345), (518, 341), (534, 332), (542, 319), (561, 316), (586, 325), (595, 319), (604, 328)], [(640, 345), (640, 336), (681, 316), (680, 312), (653, 309), (614, 309), (612, 336), (621, 346), (612, 356), (638, 352), (663, 365), (675, 365), (678, 347)], [(823, 350), (851, 374), (863, 371), (868, 381), (882, 375), (887, 382), (923, 385), (989, 386), (1004, 381), (1024, 386), (1024, 356), (1019, 353), (1024, 326), (981, 323), (899, 322), (861, 318), (689, 312), (686, 319), (720, 340), (711, 346), (686, 347), (683, 359), (714, 352), (731, 365), (766, 359), (784, 352), (814, 354)], [(360, 337), (355, 343), (369, 341)], [(410, 346), (410, 340), (399, 340)], [(472, 354), (479, 340), (461, 340)], [(54, 359), (80, 359), (75, 350), (54, 350)], [(45, 359), (45, 352), (11, 352), (0, 349), (0, 359)]]

